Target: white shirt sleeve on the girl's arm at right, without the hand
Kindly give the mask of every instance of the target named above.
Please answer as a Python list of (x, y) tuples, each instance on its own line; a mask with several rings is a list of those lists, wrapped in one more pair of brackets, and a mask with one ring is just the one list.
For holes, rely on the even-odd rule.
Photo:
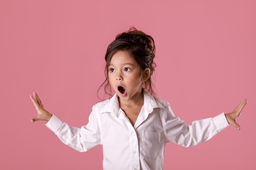
[(229, 126), (224, 113), (213, 118), (193, 121), (191, 125), (186, 124), (179, 117), (175, 117), (169, 104), (162, 124), (166, 140), (184, 147), (195, 146), (207, 141)]

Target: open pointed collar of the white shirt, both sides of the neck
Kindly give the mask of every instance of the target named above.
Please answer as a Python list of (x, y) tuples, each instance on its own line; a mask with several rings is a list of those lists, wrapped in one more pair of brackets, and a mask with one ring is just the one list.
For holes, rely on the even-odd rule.
[[(154, 108), (164, 108), (164, 106), (156, 102), (154, 97), (150, 95), (147, 91), (144, 91), (144, 105), (143, 107), (147, 110), (148, 114), (153, 112)], [(99, 108), (99, 113), (114, 113), (115, 115), (119, 112), (119, 102), (118, 102), (118, 95), (115, 93), (113, 97), (103, 101), (103, 105)]]

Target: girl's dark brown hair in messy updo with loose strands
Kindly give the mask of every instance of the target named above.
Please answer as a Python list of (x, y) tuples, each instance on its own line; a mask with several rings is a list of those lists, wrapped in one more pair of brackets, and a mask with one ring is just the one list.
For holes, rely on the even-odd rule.
[(155, 57), (155, 42), (150, 35), (137, 30), (135, 27), (130, 27), (129, 31), (118, 34), (115, 40), (109, 44), (105, 55), (106, 79), (99, 87), (98, 92), (104, 86), (105, 93), (112, 96), (111, 86), (108, 79), (108, 66), (113, 55), (117, 53), (117, 51), (126, 51), (136, 60), (139, 64), (141, 77), (145, 68), (150, 69), (150, 76), (148, 80), (144, 82), (143, 90), (145, 89), (155, 98), (155, 92), (153, 91), (151, 82), (151, 75), (155, 71), (156, 67), (156, 64), (153, 62)]

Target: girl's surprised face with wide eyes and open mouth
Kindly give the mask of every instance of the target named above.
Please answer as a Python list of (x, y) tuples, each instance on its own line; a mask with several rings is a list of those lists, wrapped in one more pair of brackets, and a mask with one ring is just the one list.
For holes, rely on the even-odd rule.
[(119, 100), (129, 101), (142, 96), (143, 80), (137, 62), (126, 51), (118, 51), (108, 67), (109, 82)]

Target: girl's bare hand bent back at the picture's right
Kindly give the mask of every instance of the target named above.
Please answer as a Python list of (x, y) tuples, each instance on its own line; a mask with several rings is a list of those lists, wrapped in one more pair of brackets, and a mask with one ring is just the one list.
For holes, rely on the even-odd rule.
[(244, 99), (242, 103), (240, 103), (239, 105), (237, 105), (232, 113), (227, 113), (225, 114), (227, 121), (229, 122), (229, 124), (235, 126), (238, 130), (240, 130), (240, 126), (239, 124), (236, 123), (236, 118), (238, 116), (240, 116), (243, 108), (245, 107), (245, 105), (247, 104), (247, 99)]

